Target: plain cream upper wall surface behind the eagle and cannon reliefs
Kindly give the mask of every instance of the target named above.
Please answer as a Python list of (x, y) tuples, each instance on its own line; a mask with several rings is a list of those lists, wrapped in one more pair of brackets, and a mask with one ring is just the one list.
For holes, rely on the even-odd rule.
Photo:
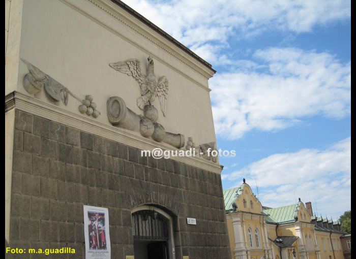
[[(50, 101), (43, 90), (35, 96), (54, 109), (111, 126), (106, 102), (117, 95), (129, 109), (142, 114), (136, 105), (140, 96), (138, 83), (133, 77), (110, 68), (109, 63), (137, 58), (145, 73), (149, 54), (155, 60), (156, 76), (166, 76), (169, 81), (166, 117), (160, 111), (158, 100), (154, 103), (159, 111), (158, 122), (167, 132), (185, 135), (186, 141), (188, 137), (193, 137), (196, 144), (216, 141), (207, 82), (213, 71), (111, 1), (23, 2), (19, 57), (80, 98), (93, 95), (101, 115), (94, 119), (80, 114), (80, 103), (72, 96), (67, 106)], [(18, 64), (17, 85), (15, 89), (7, 88), (6, 93), (16, 90), (31, 96), (22, 86), (27, 67), (22, 61)], [(141, 137), (139, 133), (132, 134)]]

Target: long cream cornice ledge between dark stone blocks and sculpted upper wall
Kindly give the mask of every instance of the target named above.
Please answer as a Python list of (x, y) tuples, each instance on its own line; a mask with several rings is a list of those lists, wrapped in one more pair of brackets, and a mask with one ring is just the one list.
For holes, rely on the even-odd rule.
[[(5, 96), (5, 112), (12, 109), (19, 109), (32, 113), (77, 128), (78, 130), (92, 133), (141, 150), (153, 150), (154, 148), (161, 148), (162, 150), (179, 150), (166, 145), (165, 143), (158, 143), (142, 136), (135, 135), (123, 128), (109, 126), (93, 119), (83, 117), (80, 114), (64, 111), (60, 107), (44, 103), (38, 99), (16, 91)], [(219, 164), (199, 157), (177, 156), (171, 157), (171, 159), (217, 174), (221, 174), (222, 171)]]

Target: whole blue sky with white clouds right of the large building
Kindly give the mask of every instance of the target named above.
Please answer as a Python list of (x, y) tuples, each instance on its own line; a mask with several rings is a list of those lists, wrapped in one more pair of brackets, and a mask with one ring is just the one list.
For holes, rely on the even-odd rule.
[(351, 209), (350, 1), (124, 2), (217, 71), (217, 144), (236, 151), (223, 189), (246, 178), (263, 206)]

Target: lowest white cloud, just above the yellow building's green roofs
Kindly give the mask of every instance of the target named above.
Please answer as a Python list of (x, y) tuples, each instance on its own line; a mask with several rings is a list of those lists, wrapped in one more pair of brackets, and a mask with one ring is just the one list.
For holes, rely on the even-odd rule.
[(300, 197), (304, 203), (311, 200), (314, 212), (316, 201), (319, 214), (335, 219), (351, 204), (351, 138), (325, 150), (302, 149), (270, 155), (222, 177), (236, 181), (236, 186), (245, 177), (251, 187), (256, 179), (264, 206), (285, 206)]

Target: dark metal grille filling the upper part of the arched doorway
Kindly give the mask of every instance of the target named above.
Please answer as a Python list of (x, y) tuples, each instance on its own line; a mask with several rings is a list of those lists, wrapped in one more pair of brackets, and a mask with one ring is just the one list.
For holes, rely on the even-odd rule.
[(169, 221), (154, 210), (140, 210), (132, 213), (132, 234), (134, 240), (167, 241)]

